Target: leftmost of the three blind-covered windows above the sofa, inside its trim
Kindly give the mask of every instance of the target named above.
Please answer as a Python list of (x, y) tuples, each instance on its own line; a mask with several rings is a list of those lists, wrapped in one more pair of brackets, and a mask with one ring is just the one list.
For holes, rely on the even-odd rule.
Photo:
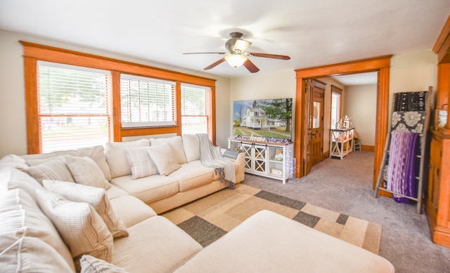
[(37, 64), (42, 152), (104, 145), (110, 140), (110, 72)]

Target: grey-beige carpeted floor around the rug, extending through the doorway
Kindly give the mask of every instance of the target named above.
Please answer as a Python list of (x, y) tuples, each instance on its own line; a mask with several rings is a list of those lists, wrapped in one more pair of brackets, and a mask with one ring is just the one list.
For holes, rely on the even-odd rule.
[(402, 272), (450, 272), (450, 248), (433, 244), (427, 215), (415, 204), (373, 198), (373, 152), (325, 159), (304, 178), (279, 180), (245, 174), (243, 185), (383, 225), (379, 255)]

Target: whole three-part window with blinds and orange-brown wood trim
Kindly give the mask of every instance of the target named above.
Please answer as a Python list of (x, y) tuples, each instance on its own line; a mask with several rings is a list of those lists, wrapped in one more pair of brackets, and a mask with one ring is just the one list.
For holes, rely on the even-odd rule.
[[(182, 131), (205, 132), (215, 143), (216, 80), (26, 41), (20, 44), (29, 154)], [(190, 92), (185, 95), (184, 125), (182, 84), (186, 91), (198, 91), (195, 98)], [(191, 109), (190, 103), (197, 108)]]

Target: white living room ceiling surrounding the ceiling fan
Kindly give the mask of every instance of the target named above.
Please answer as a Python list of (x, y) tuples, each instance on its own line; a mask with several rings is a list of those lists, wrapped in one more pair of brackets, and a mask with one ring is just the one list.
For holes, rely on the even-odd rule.
[[(243, 32), (258, 74), (380, 55), (430, 50), (449, 17), (449, 0), (0, 0), (0, 29), (198, 70)], [(226, 62), (207, 71), (250, 76)]]

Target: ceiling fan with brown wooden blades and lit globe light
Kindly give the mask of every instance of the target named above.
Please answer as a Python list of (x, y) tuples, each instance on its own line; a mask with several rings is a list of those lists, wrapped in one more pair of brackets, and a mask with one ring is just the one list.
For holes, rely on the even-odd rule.
[(275, 55), (275, 54), (267, 54), (267, 53), (257, 53), (257, 52), (245, 52), (245, 50), (252, 44), (250, 41), (245, 41), (244, 39), (240, 39), (243, 34), (240, 32), (231, 32), (230, 37), (225, 43), (225, 48), (228, 52), (189, 52), (183, 54), (224, 54), (225, 57), (213, 62), (211, 65), (208, 65), (204, 68), (204, 70), (212, 69), (217, 65), (220, 65), (222, 62), (227, 61), (229, 65), (232, 67), (240, 67), (244, 65), (248, 71), (255, 73), (259, 71), (259, 68), (252, 62), (248, 57), (262, 57), (262, 58), (272, 58), (278, 60), (290, 60), (289, 56), (286, 55)]

